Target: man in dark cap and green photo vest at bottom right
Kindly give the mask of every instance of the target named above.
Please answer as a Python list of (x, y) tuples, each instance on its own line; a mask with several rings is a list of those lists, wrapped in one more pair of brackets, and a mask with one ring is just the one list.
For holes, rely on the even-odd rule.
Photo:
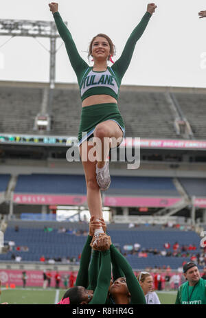
[(179, 286), (175, 304), (206, 304), (206, 281), (201, 278), (196, 264), (185, 264), (183, 273), (187, 282)]

